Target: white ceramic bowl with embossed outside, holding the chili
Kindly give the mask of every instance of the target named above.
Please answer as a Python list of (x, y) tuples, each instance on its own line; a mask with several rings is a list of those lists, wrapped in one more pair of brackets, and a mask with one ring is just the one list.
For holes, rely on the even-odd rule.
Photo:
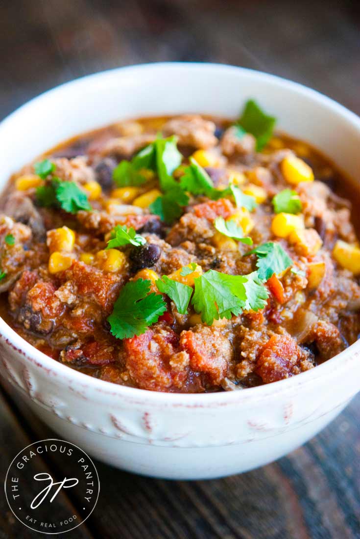
[[(11, 114), (0, 125), (0, 188), (34, 156), (88, 129), (184, 112), (235, 118), (248, 98), (360, 183), (360, 120), (336, 102), (238, 67), (152, 64), (69, 82)], [(0, 357), (2, 375), (60, 437), (108, 464), (177, 479), (244, 472), (292, 451), (343, 410), (360, 379), (359, 341), (298, 376), (209, 395), (157, 393), (91, 378), (36, 350), (3, 320)]]

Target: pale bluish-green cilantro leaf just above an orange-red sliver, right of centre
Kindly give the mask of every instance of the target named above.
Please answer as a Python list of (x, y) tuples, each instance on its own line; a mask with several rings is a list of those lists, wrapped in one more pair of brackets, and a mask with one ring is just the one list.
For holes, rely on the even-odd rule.
[(258, 275), (262, 281), (267, 281), (274, 273), (281, 273), (288, 267), (292, 266), (292, 259), (284, 251), (283, 247), (278, 243), (269, 241), (263, 245), (259, 245), (252, 251), (248, 251), (244, 256), (256, 254), (258, 259), (256, 266)]

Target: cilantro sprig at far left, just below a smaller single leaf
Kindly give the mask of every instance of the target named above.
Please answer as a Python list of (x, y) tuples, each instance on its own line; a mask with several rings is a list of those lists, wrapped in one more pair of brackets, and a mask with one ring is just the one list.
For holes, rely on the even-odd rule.
[(36, 190), (37, 202), (40, 206), (57, 206), (68, 213), (79, 210), (91, 210), (87, 195), (75, 182), (65, 182), (53, 178), (49, 185), (41, 185)]

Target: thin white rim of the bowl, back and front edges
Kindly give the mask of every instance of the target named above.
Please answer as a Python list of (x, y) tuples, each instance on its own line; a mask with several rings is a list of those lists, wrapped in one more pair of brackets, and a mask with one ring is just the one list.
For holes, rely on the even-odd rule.
[[(277, 75), (270, 73), (252, 70), (249, 68), (232, 66), (227, 64), (217, 64), (217, 63), (197, 63), (197, 62), (155, 62), (148, 64), (139, 64), (131, 66), (116, 67), (110, 70), (105, 70), (84, 77), (76, 78), (70, 80), (61, 85), (55, 86), (47, 90), (46, 92), (41, 93), (40, 95), (34, 97), (30, 101), (24, 103), (24, 105), (17, 108), (14, 112), (6, 116), (0, 122), (0, 130), (6, 129), (8, 123), (10, 123), (14, 118), (23, 114), (23, 111), (32, 107), (33, 103), (40, 102), (45, 99), (52, 99), (52, 96), (60, 93), (62, 89), (68, 88), (70, 86), (81, 86), (87, 85), (89, 82), (96, 84), (96, 82), (107, 77), (116, 77), (121, 76), (124, 72), (142, 72), (142, 71), (152, 71), (157, 68), (166, 69), (175, 69), (175, 70), (186, 70), (186, 71), (217, 71), (219, 74), (225, 71), (232, 71), (242, 73), (244, 77), (251, 77), (253, 79), (258, 79), (261, 81), (270, 81), (274, 84), (278, 84), (287, 89), (292, 89), (302, 94), (302, 96), (311, 99), (319, 103), (321, 106), (326, 106), (333, 110), (338, 116), (341, 116), (343, 120), (350, 123), (353, 127), (358, 128), (360, 131), (360, 118), (354, 112), (351, 112), (349, 109), (345, 108), (340, 103), (337, 103), (328, 96), (312, 89), (298, 82), (294, 82)], [(76, 371), (72, 368), (69, 368), (67, 365), (60, 363), (53, 358), (47, 356), (40, 350), (37, 350), (29, 342), (27, 342), (23, 337), (20, 337), (1, 317), (0, 317), (0, 337), (4, 338), (17, 353), (23, 355), (26, 360), (30, 360), (31, 363), (35, 364), (38, 368), (42, 368), (46, 371), (48, 375), (57, 376), (58, 380), (61, 380), (63, 383), (77, 383), (84, 389), (91, 389), (95, 392), (105, 393), (111, 396), (123, 397), (126, 399), (133, 400), (137, 403), (156, 403), (159, 404), (168, 404), (176, 406), (204, 406), (209, 405), (227, 405), (227, 404), (237, 404), (243, 399), (248, 400), (258, 400), (267, 397), (273, 397), (284, 392), (294, 392), (299, 389), (299, 386), (310, 385), (315, 383), (320, 377), (334, 376), (335, 372), (338, 372), (340, 369), (347, 369), (349, 362), (358, 361), (360, 359), (360, 340), (351, 344), (350, 347), (343, 350), (340, 354), (337, 354), (330, 360), (317, 365), (316, 368), (310, 369), (306, 372), (302, 372), (299, 375), (292, 376), (280, 380), (276, 383), (264, 384), (256, 386), (254, 388), (247, 388), (246, 391), (223, 391), (223, 392), (214, 392), (214, 393), (168, 393), (160, 391), (150, 391), (139, 388), (130, 388), (128, 386), (115, 384), (113, 382), (108, 382), (101, 380), (99, 378), (94, 378), (83, 372)], [(59, 376), (58, 376), (59, 375)]]

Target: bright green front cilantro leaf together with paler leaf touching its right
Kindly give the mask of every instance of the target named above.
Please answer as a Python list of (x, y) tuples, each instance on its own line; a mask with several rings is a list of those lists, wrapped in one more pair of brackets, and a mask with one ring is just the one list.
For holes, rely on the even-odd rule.
[(201, 320), (210, 326), (214, 319), (237, 316), (244, 308), (258, 310), (266, 305), (267, 291), (256, 278), (248, 275), (228, 275), (209, 269), (194, 279), (192, 304)]

